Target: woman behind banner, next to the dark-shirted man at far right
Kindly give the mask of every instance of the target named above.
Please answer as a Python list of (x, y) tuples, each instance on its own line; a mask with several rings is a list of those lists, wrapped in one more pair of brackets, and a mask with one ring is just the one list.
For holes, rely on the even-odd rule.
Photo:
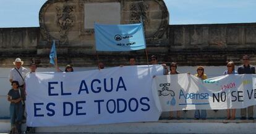
[[(237, 74), (237, 71), (234, 70), (234, 62), (229, 61), (227, 64), (228, 70), (224, 71), (223, 74)], [(236, 119), (236, 109), (231, 109), (231, 115), (230, 115), (230, 109), (227, 109), (227, 118), (228, 120), (234, 120)]]

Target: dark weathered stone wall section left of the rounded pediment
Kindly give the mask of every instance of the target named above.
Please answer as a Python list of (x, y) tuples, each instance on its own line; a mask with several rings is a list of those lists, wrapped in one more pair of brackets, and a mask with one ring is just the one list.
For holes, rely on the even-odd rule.
[(0, 28), (0, 66), (12, 66), (15, 57), (26, 58), (29, 65), (40, 41), (40, 28)]

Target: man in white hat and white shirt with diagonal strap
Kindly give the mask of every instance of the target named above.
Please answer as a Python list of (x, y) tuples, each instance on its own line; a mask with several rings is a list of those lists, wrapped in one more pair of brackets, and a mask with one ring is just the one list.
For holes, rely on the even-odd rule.
[(15, 68), (12, 68), (10, 71), (10, 82), (12, 81), (18, 81), (21, 88), (23, 88), (25, 84), (25, 75), (28, 73), (28, 70), (26, 68), (23, 68), (23, 61), (20, 60), (20, 58), (16, 58), (13, 62), (15, 65)]

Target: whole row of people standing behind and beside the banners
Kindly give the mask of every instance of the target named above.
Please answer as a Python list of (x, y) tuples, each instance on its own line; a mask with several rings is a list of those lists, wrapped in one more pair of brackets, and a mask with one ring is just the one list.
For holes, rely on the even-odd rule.
[[(243, 57), (244, 64), (242, 66), (239, 66), (237, 71), (235, 71), (235, 64), (233, 61), (229, 61), (227, 66), (227, 70), (224, 71), (223, 74), (255, 74), (255, 68), (254, 66), (250, 65), (250, 58), (248, 55), (244, 55)], [(9, 80), (12, 85), (12, 89), (9, 90), (9, 93), (7, 95), (7, 100), (10, 101), (10, 117), (11, 117), (11, 132), (17, 131), (21, 132), (21, 124), (22, 120), (25, 119), (25, 77), (29, 73), (35, 73), (36, 71), (36, 64), (31, 63), (30, 64), (30, 71), (28, 69), (24, 68), (23, 61), (20, 58), (16, 58), (13, 62), (15, 65), (15, 68), (12, 68), (10, 71)], [(150, 63), (151, 65), (158, 65), (158, 58), (155, 55), (152, 55), (150, 57)], [(129, 65), (136, 65), (136, 58), (130, 57), (129, 58)], [(121, 65), (122, 67), (123, 65)], [(105, 66), (103, 63), (98, 63), (98, 69), (104, 69)], [(163, 64), (165, 75), (173, 75), (173, 74), (179, 74), (179, 71), (177, 71), (177, 63), (171, 63), (168, 66), (166, 64)], [(56, 71), (61, 71), (58, 67), (56, 68)], [(64, 72), (73, 72), (74, 69), (71, 65), (67, 65)], [(200, 79), (207, 79), (207, 74), (205, 73), (205, 70), (203, 66), (198, 66), (197, 68), (197, 74), (195, 76), (199, 77)], [(248, 108), (241, 109), (241, 119), (247, 119), (246, 114), (248, 112), (248, 119), (252, 120), (254, 119), (254, 111), (253, 106), (249, 106)], [(26, 112), (25, 112), (26, 113)], [(227, 109), (227, 119), (236, 119), (236, 109)], [(207, 119), (207, 112), (206, 110), (195, 110), (195, 119)], [(181, 118), (181, 111), (177, 111), (177, 119)], [(173, 112), (169, 113), (169, 119), (173, 118)], [(34, 132), (34, 128), (27, 127), (27, 132)]]

